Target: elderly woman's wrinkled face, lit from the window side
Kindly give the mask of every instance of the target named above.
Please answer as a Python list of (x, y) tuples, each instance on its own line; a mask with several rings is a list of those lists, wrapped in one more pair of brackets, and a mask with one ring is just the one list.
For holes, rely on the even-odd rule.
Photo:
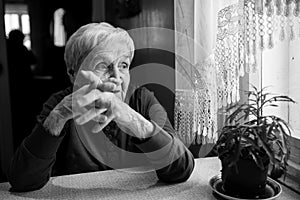
[(97, 54), (97, 64), (90, 66), (102, 82), (115, 84), (112, 91), (124, 101), (130, 82), (129, 66), (131, 52), (128, 45), (121, 40), (114, 40), (104, 46), (103, 52)]

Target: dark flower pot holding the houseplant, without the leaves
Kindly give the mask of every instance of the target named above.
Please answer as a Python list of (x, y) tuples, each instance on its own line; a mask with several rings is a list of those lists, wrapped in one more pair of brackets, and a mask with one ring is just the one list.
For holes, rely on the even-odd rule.
[(232, 196), (253, 197), (265, 192), (267, 183), (268, 163), (264, 169), (257, 166), (251, 158), (242, 158), (236, 166), (228, 167), (228, 162), (222, 162), (223, 190)]

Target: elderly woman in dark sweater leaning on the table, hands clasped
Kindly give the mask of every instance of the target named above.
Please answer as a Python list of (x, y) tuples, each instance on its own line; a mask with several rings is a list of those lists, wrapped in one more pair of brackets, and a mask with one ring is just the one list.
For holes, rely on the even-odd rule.
[(107, 23), (71, 36), (65, 62), (74, 86), (44, 104), (12, 159), (11, 191), (39, 189), (50, 176), (134, 166), (168, 183), (189, 178), (193, 156), (161, 120), (164, 109), (147, 89), (129, 87), (133, 53), (129, 34)]

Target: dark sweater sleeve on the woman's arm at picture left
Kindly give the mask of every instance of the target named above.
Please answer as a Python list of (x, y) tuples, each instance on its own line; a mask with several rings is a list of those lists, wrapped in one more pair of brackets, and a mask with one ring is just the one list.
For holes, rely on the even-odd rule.
[(59, 137), (52, 136), (42, 124), (65, 95), (65, 91), (55, 94), (44, 104), (31, 134), (16, 150), (7, 173), (11, 184), (10, 191), (37, 190), (48, 182), (55, 163), (56, 152), (65, 134), (62, 133)]

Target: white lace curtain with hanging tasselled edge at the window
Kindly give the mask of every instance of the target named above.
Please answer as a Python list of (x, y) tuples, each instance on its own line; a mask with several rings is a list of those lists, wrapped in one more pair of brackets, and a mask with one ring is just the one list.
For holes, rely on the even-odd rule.
[[(261, 51), (300, 37), (300, 0), (176, 0), (175, 130), (185, 144), (218, 139), (218, 109), (240, 99)], [(184, 36), (183, 36), (184, 35)]]

